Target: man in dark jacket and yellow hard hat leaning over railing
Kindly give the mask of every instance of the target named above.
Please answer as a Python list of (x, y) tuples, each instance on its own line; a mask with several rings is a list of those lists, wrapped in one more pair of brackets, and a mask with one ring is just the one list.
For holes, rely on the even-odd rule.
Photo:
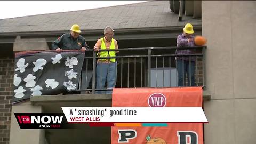
[(84, 37), (79, 35), (80, 33), (80, 27), (74, 24), (70, 29), (70, 33), (63, 34), (52, 43), (52, 49), (57, 52), (61, 50), (81, 50), (84, 52), (89, 49), (89, 46), (86, 44)]

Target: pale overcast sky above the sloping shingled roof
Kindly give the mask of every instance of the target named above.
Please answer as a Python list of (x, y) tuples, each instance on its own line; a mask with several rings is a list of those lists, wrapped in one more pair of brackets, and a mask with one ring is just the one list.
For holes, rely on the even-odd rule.
[(141, 2), (146, 1), (0, 1), (0, 19)]

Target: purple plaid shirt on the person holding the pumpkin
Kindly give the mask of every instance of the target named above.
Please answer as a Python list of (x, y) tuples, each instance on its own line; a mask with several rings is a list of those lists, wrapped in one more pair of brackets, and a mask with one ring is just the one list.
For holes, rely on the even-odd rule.
[[(194, 36), (191, 36), (194, 37)], [(192, 41), (188, 42), (188, 38), (185, 37), (184, 34), (181, 34), (177, 37), (177, 47), (179, 49), (179, 47), (193, 47), (195, 46), (194, 43), (194, 38)], [(195, 52), (193, 50), (176, 50), (176, 54), (195, 54)], [(189, 56), (184, 56), (183, 57), (184, 60), (188, 60), (189, 61)], [(182, 60), (182, 57), (175, 57), (175, 60)], [(191, 61), (196, 61), (196, 57), (191, 57), (190, 58)]]

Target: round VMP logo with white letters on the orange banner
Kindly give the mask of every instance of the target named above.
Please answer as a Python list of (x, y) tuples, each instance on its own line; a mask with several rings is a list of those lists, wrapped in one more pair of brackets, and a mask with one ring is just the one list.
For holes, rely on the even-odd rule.
[(148, 98), (148, 105), (150, 107), (165, 107), (166, 98), (162, 93), (153, 93)]

